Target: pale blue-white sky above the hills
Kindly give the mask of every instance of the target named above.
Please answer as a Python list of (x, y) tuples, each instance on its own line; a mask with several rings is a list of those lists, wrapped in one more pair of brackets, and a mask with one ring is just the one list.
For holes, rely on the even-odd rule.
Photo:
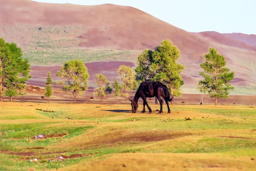
[(78, 5), (116, 4), (147, 12), (188, 32), (256, 34), (256, 0), (34, 0)]

